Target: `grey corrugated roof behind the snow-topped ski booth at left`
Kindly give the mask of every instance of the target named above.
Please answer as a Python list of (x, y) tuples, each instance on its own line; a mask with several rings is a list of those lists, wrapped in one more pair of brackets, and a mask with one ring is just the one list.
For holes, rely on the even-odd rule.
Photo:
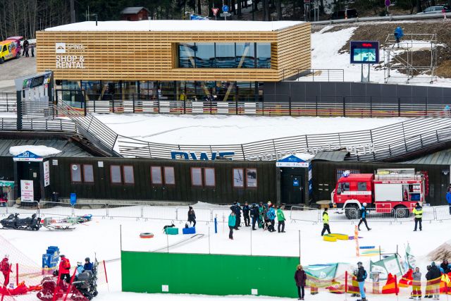
[(92, 156), (77, 145), (68, 140), (53, 139), (53, 140), (16, 140), (16, 139), (1, 139), (0, 140), (0, 156), (13, 156), (9, 153), (10, 147), (17, 147), (20, 145), (44, 145), (46, 147), (54, 147), (61, 150), (60, 153), (51, 156)]

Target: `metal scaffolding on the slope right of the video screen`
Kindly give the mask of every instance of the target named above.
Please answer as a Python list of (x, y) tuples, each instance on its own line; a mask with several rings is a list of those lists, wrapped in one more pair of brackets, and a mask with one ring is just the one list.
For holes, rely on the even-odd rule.
[[(384, 51), (384, 79), (387, 83), (392, 78), (405, 78), (409, 83), (414, 76), (424, 75), (432, 83), (437, 79), (437, 35), (436, 34), (404, 34), (397, 41), (394, 34), (385, 39)], [(429, 51), (431, 61), (428, 65), (415, 63), (418, 57), (417, 51)], [(407, 55), (407, 56), (406, 56)], [(392, 70), (399, 70), (394, 74)], [(402, 76), (400, 76), (402, 75)]]

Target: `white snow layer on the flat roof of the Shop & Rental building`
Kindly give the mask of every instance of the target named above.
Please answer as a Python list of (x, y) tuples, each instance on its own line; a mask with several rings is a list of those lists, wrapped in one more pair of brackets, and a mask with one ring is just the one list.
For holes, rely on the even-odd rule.
[(215, 21), (215, 20), (141, 20), (141, 21), (87, 21), (47, 28), (45, 31), (252, 31), (267, 32), (283, 30), (304, 22), (299, 21)]

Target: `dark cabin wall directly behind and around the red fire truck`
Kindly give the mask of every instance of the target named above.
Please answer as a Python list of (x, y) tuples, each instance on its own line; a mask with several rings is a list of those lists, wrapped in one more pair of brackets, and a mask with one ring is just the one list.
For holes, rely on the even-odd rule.
[[(356, 169), (360, 173), (374, 173), (378, 168), (415, 168), (415, 171), (427, 171), (429, 177), (429, 195), (426, 202), (431, 205), (446, 204), (445, 195), (450, 184), (450, 166), (432, 164), (399, 164), (383, 162), (332, 162), (313, 161), (313, 187), (315, 202), (321, 199), (330, 199), (330, 193), (337, 183), (338, 169)], [(447, 175), (443, 173), (447, 171)]]

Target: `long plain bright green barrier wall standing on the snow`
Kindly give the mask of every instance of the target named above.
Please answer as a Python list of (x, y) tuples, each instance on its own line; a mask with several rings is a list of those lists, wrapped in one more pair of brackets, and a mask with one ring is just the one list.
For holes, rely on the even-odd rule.
[(121, 252), (122, 290), (135, 293), (296, 297), (299, 257)]

